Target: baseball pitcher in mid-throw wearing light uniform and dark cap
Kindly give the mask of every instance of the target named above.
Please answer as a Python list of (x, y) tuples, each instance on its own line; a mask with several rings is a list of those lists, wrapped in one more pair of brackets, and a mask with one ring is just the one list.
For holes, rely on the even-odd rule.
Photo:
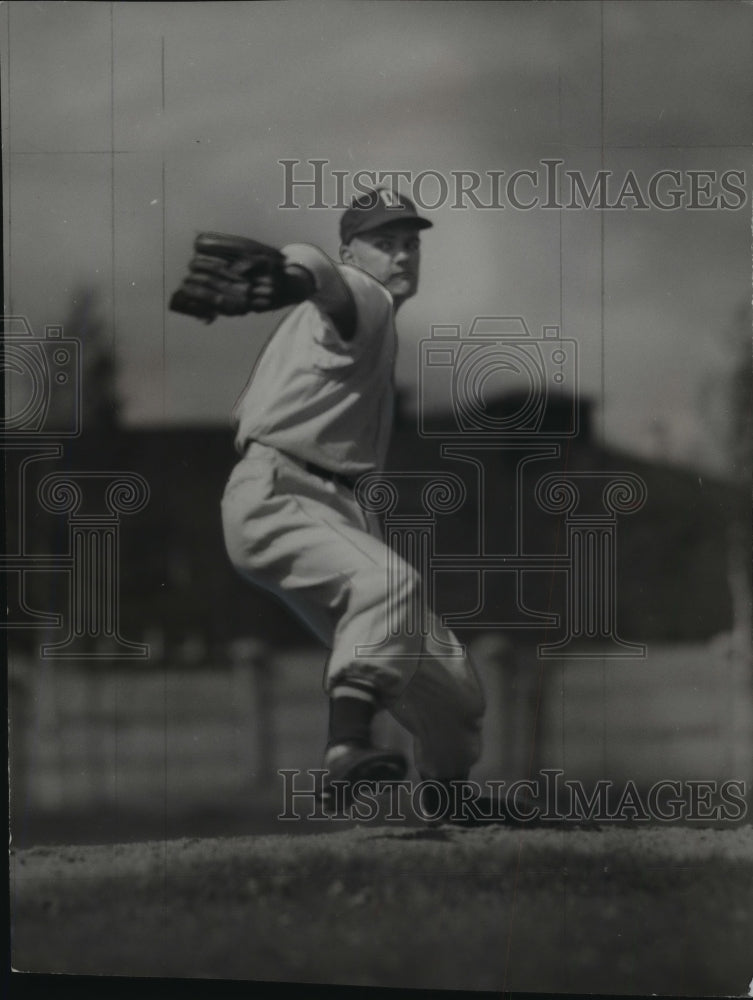
[(413, 735), (423, 779), (465, 779), (480, 752), (475, 671), (431, 609), (415, 628), (422, 580), (354, 495), (360, 475), (383, 468), (394, 317), (416, 293), (419, 234), (431, 225), (408, 198), (379, 189), (340, 219), (340, 263), (308, 244), (277, 251), (203, 234), (171, 302), (207, 320), (294, 306), (236, 404), (240, 460), (222, 521), (236, 569), (281, 597), (330, 649), (325, 799), (334, 781), (405, 775), (402, 754), (372, 743), (380, 710)]

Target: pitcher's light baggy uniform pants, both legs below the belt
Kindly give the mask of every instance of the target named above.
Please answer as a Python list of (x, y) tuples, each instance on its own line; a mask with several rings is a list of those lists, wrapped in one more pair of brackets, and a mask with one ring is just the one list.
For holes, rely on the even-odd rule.
[(422, 777), (467, 777), (484, 711), (476, 672), (430, 609), (417, 614), (419, 574), (384, 544), (352, 491), (254, 441), (230, 476), (222, 521), (235, 568), (331, 650), (325, 692), (367, 684), (413, 735)]

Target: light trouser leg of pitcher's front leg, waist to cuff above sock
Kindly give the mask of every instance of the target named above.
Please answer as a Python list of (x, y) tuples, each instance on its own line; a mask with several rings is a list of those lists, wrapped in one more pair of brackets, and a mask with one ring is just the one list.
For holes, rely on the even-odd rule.
[(231, 477), (222, 513), (236, 569), (280, 595), (331, 648), (327, 693), (352, 682), (393, 701), (422, 649), (420, 581), (368, 532), (347, 491), (252, 445)]

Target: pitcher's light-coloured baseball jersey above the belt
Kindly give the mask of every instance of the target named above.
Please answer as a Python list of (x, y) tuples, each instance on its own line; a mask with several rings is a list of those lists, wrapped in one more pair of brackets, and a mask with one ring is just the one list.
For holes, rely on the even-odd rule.
[(394, 410), (392, 296), (360, 268), (337, 269), (356, 306), (353, 337), (343, 340), (310, 301), (285, 316), (233, 411), (241, 454), (259, 441), (343, 475), (383, 467)]

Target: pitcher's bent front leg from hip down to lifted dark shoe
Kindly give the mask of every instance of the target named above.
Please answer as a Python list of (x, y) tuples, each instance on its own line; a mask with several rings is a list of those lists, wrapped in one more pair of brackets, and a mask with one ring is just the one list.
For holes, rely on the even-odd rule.
[(358, 646), (379, 646), (385, 621), (398, 620), (409, 606), (412, 571), (396, 574), (401, 582), (388, 590), (389, 550), (368, 533), (348, 491), (273, 449), (252, 447), (222, 508), (227, 550), (239, 572), (280, 595), (332, 650), (324, 678), (325, 766), (349, 780), (402, 776), (401, 755), (374, 754), (370, 726), (375, 711), (405, 686), (415, 657), (361, 660)]

